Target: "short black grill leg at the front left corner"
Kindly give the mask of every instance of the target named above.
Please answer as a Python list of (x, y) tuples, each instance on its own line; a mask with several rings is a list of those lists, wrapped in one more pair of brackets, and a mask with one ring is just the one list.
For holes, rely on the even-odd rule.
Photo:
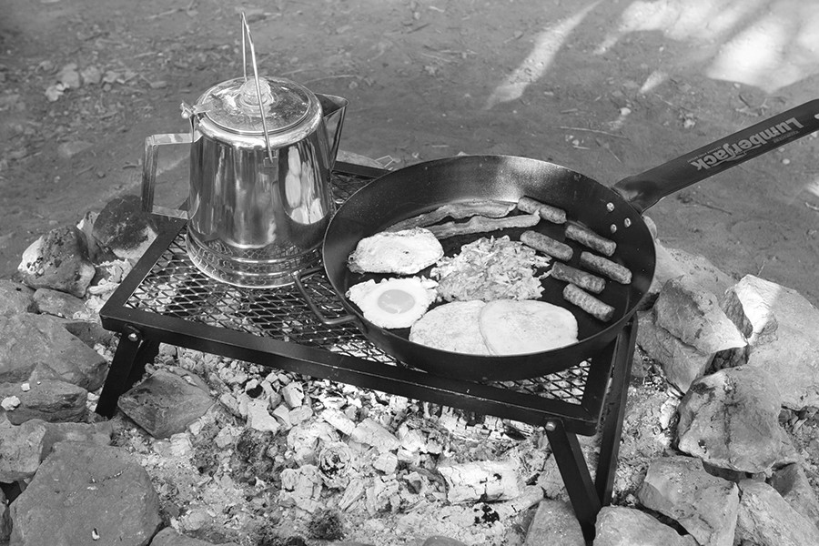
[(96, 402), (96, 413), (113, 417), (119, 396), (142, 377), (147, 361), (154, 359), (158, 352), (158, 341), (144, 339), (138, 330), (126, 328), (116, 346), (106, 383)]

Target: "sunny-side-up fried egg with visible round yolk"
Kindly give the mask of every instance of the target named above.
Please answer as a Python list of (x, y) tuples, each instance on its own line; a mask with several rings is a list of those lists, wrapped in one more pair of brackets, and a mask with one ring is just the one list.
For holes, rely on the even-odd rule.
[(376, 326), (410, 328), (438, 298), (437, 287), (438, 283), (430, 278), (385, 278), (353, 285), (347, 297)]

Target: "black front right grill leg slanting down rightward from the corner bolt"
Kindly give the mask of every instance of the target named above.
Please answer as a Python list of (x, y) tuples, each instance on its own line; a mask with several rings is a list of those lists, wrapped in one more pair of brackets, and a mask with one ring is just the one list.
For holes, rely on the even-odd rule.
[(594, 539), (594, 522), (601, 503), (591, 482), (589, 467), (577, 435), (567, 432), (561, 420), (552, 420), (546, 427), (546, 437), (558, 469), (561, 470), (561, 478), (569, 492), (571, 507), (581, 524), (583, 536), (586, 541), (591, 541)]

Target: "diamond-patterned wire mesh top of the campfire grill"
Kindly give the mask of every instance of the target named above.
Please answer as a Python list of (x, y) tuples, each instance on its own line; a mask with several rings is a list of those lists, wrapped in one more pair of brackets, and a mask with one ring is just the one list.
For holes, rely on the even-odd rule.
[[(369, 178), (365, 177), (334, 174), (337, 202), (343, 202), (368, 181)], [(332, 319), (347, 314), (323, 273), (304, 278), (304, 284), (325, 316)], [(404, 366), (372, 345), (354, 323), (323, 324), (294, 286), (238, 288), (207, 277), (187, 256), (184, 228), (127, 299), (126, 307), (386, 365)], [(580, 405), (589, 368), (589, 363), (581, 362), (541, 378), (484, 384)]]

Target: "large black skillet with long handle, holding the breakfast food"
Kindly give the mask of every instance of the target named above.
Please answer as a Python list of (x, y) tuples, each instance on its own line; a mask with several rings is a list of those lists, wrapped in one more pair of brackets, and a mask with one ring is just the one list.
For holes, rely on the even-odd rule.
[[(605, 187), (569, 168), (525, 157), (459, 156), (437, 159), (400, 168), (362, 187), (339, 207), (324, 238), (323, 261), (329, 282), (351, 315), (326, 319), (311, 303), (319, 319), (338, 324), (355, 320), (373, 344), (407, 365), (440, 376), (470, 380), (511, 380), (540, 377), (570, 368), (614, 339), (637, 310), (654, 274), (655, 254), (652, 235), (642, 212), (662, 197), (707, 177), (734, 167), (752, 157), (780, 147), (819, 129), (819, 99), (796, 106), (660, 167), (626, 177)], [(565, 284), (553, 278), (543, 281), (541, 299), (569, 308), (577, 322), (579, 341), (560, 349), (513, 356), (476, 356), (432, 349), (408, 339), (409, 329), (382, 329), (367, 319), (345, 296), (348, 288), (369, 278), (349, 271), (347, 261), (361, 238), (384, 230), (395, 222), (429, 212), (446, 203), (490, 198), (515, 202), (533, 197), (566, 210), (570, 221), (591, 227), (617, 243), (615, 261), (632, 271), (628, 286), (606, 283), (599, 295), (615, 308), (614, 318), (603, 323), (563, 300)], [(536, 230), (564, 240), (563, 226), (541, 220)], [(496, 231), (443, 239), (448, 256), (460, 246), (483, 236), (510, 235), (517, 240), (522, 229)], [(566, 241), (570, 242), (570, 241)], [(581, 248), (575, 249), (570, 265), (579, 267)], [(429, 270), (420, 273), (429, 277)], [(297, 284), (307, 296), (299, 276)], [(308, 298), (309, 301), (309, 298)]]

